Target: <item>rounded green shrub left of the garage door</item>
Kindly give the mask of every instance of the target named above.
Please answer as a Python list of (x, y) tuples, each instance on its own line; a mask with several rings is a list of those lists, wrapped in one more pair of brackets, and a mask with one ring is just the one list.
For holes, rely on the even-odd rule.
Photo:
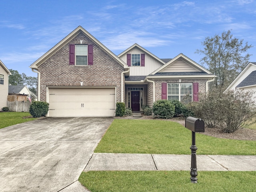
[(33, 101), (29, 108), (29, 113), (33, 117), (46, 116), (49, 110), (49, 104), (43, 101)]

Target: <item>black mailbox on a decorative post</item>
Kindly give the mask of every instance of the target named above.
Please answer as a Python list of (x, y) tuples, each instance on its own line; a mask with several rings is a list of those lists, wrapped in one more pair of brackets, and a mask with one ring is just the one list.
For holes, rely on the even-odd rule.
[(190, 180), (192, 183), (197, 183), (197, 168), (196, 168), (196, 132), (204, 132), (204, 121), (202, 119), (187, 117), (185, 127), (192, 131), (192, 145), (191, 149), (191, 168)]

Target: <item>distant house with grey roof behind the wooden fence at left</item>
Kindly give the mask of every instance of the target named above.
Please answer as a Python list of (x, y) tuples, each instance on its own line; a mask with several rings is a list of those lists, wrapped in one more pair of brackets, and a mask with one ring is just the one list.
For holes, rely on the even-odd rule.
[(9, 85), (8, 101), (26, 101), (32, 93), (26, 85)]

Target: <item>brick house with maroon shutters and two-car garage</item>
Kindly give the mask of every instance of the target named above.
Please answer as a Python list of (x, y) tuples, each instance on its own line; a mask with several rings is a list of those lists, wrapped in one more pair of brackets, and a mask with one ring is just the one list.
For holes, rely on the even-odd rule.
[(116, 102), (141, 111), (187, 94), (197, 101), (215, 77), (183, 54), (161, 60), (138, 44), (116, 56), (81, 26), (30, 68), (48, 116), (114, 116)]

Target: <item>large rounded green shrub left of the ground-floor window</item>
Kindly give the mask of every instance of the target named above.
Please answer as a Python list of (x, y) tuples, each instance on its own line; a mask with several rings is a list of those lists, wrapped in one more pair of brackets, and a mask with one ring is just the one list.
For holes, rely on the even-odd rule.
[(152, 112), (157, 118), (169, 119), (175, 114), (175, 106), (169, 100), (158, 100), (154, 102)]

